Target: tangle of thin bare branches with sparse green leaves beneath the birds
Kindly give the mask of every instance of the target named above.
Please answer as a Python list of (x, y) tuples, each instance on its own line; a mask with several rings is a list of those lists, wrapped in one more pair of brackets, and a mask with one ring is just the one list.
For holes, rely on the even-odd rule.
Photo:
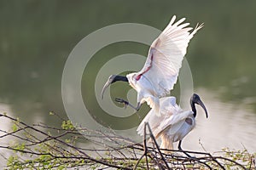
[[(143, 143), (115, 134), (73, 126), (54, 112), (61, 127), (43, 123), (29, 125), (19, 118), (0, 113), (0, 119), (11, 121), (12, 129), (0, 129), (0, 149), (13, 152), (5, 169), (255, 169), (256, 153), (224, 148), (213, 154), (190, 150), (159, 149), (150, 127), (145, 124)], [(148, 129), (148, 130), (146, 130)], [(148, 132), (148, 133), (146, 133)], [(83, 133), (83, 134), (82, 134)], [(148, 143), (151, 138), (152, 143)], [(7, 140), (8, 139), (8, 140)], [(94, 144), (81, 147), (78, 141)], [(9, 144), (3, 141), (11, 141)], [(88, 145), (90, 145), (88, 144)], [(187, 157), (183, 152), (193, 157)]]

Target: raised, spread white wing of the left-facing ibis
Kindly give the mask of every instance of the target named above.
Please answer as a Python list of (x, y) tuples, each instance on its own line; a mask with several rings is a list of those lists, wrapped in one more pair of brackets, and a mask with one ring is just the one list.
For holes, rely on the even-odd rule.
[(197, 25), (190, 33), (193, 28), (186, 27), (189, 23), (182, 24), (184, 18), (174, 23), (175, 19), (174, 15), (166, 29), (154, 40), (142, 71), (137, 73), (137, 80), (142, 76), (146, 77), (159, 97), (170, 94), (170, 90), (177, 82), (178, 71), (189, 40), (202, 27)]

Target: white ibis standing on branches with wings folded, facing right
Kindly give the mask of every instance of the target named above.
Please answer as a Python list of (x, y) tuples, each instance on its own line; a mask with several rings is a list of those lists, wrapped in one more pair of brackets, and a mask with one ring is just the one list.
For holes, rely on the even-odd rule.
[[(195, 127), (195, 104), (201, 107), (207, 114), (207, 108), (197, 94), (190, 99), (192, 111), (183, 111), (177, 104), (175, 97), (160, 99), (160, 116), (153, 109), (144, 117), (143, 122), (137, 127), (137, 133), (143, 136), (144, 123), (148, 122), (155, 139), (161, 138), (160, 149), (173, 149), (173, 143), (179, 141), (178, 149), (182, 150), (183, 138)], [(184, 152), (187, 156), (186, 152)]]

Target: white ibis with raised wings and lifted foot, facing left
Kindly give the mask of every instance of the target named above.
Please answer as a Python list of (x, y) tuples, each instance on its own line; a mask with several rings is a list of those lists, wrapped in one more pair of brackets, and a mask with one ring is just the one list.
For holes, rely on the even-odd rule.
[[(137, 91), (137, 106), (131, 105), (125, 99), (115, 99), (119, 103), (130, 105), (139, 110), (146, 101), (156, 110), (160, 108), (160, 98), (170, 94), (174, 84), (177, 82), (178, 71), (186, 54), (189, 40), (201, 29), (202, 25), (193, 28), (187, 27), (189, 23), (183, 23), (184, 18), (175, 22), (176, 16), (172, 17), (169, 25), (161, 32), (152, 43), (148, 51), (148, 58), (141, 71), (133, 72), (126, 77), (111, 75), (108, 82), (102, 88), (102, 99), (106, 88), (117, 81), (129, 82), (131, 87)], [(183, 23), (183, 24), (182, 24)]]

